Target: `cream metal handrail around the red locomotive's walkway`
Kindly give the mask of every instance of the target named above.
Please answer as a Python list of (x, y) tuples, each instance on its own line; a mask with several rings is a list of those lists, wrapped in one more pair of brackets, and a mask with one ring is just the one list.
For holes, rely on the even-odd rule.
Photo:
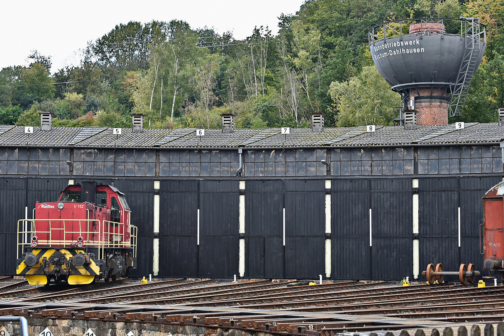
[(106, 248), (132, 248), (136, 257), (137, 233), (134, 225), (97, 219), (21, 219), (17, 258), (27, 248), (40, 247), (97, 247), (99, 259), (103, 259)]

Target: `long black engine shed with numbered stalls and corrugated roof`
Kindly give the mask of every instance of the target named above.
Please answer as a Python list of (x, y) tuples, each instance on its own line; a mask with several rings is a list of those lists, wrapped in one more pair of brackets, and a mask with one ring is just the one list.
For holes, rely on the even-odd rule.
[(282, 134), (223, 117), (198, 136), (141, 121), (120, 135), (0, 126), (0, 274), (15, 273), (18, 219), (82, 181), (124, 192), (138, 227), (132, 276), (422, 280), (430, 262), (483, 269), (481, 197), (503, 176), (498, 123)]

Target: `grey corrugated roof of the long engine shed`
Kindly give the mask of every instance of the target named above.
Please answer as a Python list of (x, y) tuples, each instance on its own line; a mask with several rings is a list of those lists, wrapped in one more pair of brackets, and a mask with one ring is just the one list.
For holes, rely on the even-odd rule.
[[(29, 139), (28, 139), (29, 136)], [(275, 148), (330, 146), (404, 146), (414, 144), (474, 144), (504, 141), (504, 127), (498, 123), (466, 123), (462, 130), (455, 125), (418, 126), (405, 130), (402, 126), (376, 126), (375, 132), (365, 127), (328, 127), (314, 133), (310, 128), (291, 128), (282, 135), (280, 128), (206, 129), (205, 136), (194, 128), (144, 129), (133, 133), (123, 128), (119, 136), (108, 127), (52, 127), (42, 131), (34, 127), (28, 135), (22, 126), (0, 125), (0, 146), (40, 147), (122, 147), (122, 148)]]

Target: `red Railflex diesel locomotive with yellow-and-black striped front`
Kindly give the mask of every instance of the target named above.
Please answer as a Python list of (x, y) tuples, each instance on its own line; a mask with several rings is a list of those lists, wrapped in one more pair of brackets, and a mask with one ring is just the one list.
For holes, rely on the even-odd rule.
[[(113, 183), (112, 183), (113, 184)], [(137, 228), (124, 194), (110, 185), (69, 185), (18, 221), (18, 275), (30, 285), (115, 280), (136, 268)]]

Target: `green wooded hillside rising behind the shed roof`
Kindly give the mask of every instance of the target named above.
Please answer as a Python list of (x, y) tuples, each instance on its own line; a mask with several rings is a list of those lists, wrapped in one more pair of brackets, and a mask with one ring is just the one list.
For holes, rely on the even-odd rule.
[[(83, 46), (78, 66), (53, 70), (34, 50), (28, 66), (0, 71), (0, 124), (220, 128), (234, 113), (239, 128), (391, 125), (400, 96), (376, 71), (367, 30), (417, 17), (477, 17), (487, 25), (485, 57), (473, 78), (462, 121), (496, 121), (504, 105), (504, 0), (312, 0), (278, 18), (279, 33), (258, 26), (244, 40), (186, 22), (118, 24)], [(461, 120), (458, 118), (457, 120)], [(454, 122), (451, 120), (451, 122)]]

